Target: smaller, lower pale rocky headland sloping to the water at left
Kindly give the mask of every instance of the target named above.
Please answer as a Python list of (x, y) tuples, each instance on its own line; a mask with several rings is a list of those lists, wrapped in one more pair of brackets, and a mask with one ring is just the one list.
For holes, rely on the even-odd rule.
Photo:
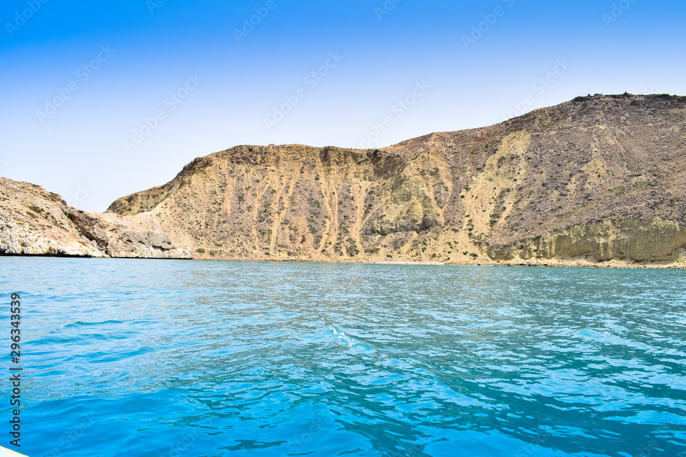
[(0, 178), (0, 255), (191, 258), (147, 214), (76, 210), (59, 195)]

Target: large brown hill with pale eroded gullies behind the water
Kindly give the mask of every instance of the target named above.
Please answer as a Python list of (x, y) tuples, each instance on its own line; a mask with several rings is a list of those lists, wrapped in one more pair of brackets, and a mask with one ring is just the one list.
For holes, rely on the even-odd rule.
[(383, 149), (239, 146), (115, 201), (196, 256), (686, 262), (686, 97), (578, 97)]

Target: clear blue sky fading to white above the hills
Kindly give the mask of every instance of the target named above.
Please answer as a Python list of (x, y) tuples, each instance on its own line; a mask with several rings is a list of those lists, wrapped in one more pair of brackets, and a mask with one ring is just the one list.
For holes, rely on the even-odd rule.
[(235, 145), (383, 147), (589, 93), (686, 95), (684, 17), (660, 0), (5, 0), (0, 175), (104, 211)]

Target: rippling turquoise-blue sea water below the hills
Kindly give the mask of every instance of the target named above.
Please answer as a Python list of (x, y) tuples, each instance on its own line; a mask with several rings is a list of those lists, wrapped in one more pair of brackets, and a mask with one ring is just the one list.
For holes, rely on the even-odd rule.
[(686, 456), (686, 271), (0, 266), (31, 457)]

